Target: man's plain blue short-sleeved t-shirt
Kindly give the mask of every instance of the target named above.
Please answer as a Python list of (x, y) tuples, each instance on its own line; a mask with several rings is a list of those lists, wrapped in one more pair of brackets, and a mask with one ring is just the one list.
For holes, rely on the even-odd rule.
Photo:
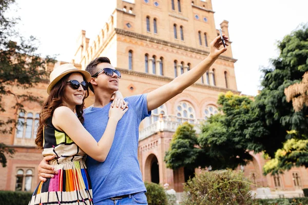
[[(151, 112), (147, 111), (146, 94), (124, 98), (128, 111), (118, 122), (110, 152), (104, 162), (87, 157), (86, 165), (92, 182), (93, 201), (145, 192), (138, 161), (140, 122)], [(84, 110), (84, 127), (99, 141), (105, 132), (111, 103), (103, 108)]]

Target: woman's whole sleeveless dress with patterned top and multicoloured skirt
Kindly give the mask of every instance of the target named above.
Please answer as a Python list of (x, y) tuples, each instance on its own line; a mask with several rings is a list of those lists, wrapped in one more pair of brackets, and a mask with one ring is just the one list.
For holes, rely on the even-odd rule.
[(91, 181), (85, 165), (86, 153), (66, 133), (57, 130), (51, 120), (43, 133), (43, 156), (56, 156), (49, 165), (58, 174), (38, 184), (29, 205), (93, 204)]

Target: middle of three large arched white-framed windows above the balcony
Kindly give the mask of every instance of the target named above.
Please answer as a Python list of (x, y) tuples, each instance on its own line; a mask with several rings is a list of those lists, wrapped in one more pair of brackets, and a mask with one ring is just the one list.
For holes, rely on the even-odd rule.
[(177, 121), (194, 123), (196, 119), (196, 112), (194, 107), (187, 101), (181, 101), (177, 106)]

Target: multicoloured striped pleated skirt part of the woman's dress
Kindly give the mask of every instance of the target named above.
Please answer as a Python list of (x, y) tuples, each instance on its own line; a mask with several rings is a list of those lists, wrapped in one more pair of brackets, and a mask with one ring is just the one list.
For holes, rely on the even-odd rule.
[(36, 187), (29, 205), (93, 204), (91, 180), (83, 161), (54, 166), (58, 174)]

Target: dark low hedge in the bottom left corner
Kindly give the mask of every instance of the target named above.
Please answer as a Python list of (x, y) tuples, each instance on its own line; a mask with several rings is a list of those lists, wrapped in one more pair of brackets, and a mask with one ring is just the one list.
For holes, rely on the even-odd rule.
[(32, 193), (0, 191), (0, 205), (28, 205)]

